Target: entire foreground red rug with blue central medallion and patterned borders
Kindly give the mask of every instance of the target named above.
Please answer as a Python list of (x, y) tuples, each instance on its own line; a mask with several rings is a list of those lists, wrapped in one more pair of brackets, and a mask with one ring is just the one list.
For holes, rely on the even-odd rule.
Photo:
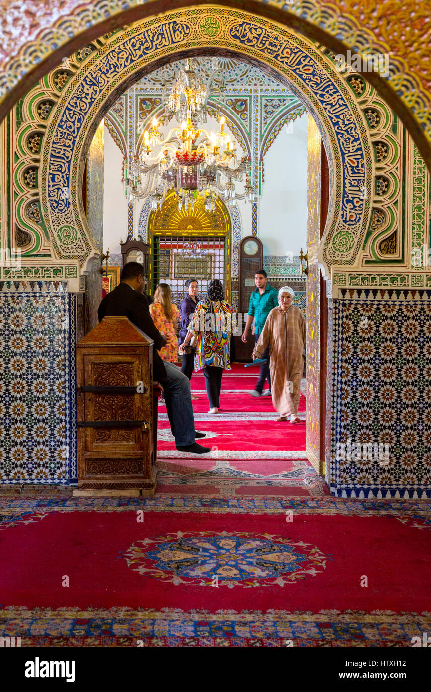
[(22, 646), (410, 647), (431, 631), (425, 502), (3, 497), (0, 519), (0, 635)]

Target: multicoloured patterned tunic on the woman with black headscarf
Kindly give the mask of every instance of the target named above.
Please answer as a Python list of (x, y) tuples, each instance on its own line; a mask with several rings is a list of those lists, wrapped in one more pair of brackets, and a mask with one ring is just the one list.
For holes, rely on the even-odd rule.
[(212, 309), (213, 312), (208, 298), (199, 300), (188, 327), (198, 338), (194, 354), (195, 372), (203, 367), (231, 369), (230, 336), (237, 329), (237, 316), (226, 300), (214, 300)]

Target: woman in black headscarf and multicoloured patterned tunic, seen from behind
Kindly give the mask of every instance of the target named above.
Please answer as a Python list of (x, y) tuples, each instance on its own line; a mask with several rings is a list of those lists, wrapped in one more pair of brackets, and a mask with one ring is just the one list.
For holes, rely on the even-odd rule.
[(230, 370), (230, 336), (236, 328), (232, 305), (224, 300), (223, 284), (219, 279), (213, 279), (208, 284), (207, 295), (196, 305), (180, 346), (187, 346), (193, 336), (197, 337), (194, 370), (202, 370), (205, 377), (210, 403), (208, 413), (219, 412), (221, 376), (223, 370)]

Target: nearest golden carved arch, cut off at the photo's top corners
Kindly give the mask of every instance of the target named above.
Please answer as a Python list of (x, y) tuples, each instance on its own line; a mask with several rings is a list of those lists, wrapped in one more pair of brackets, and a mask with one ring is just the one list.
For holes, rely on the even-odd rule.
[[(171, 0), (172, 10), (190, 6), (193, 0)], [(250, 3), (229, 0), (229, 6), (246, 10)], [(61, 6), (56, 0), (0, 0), (0, 7), (0, 118), (4, 118), (28, 86), (59, 64), (65, 53), (107, 31), (156, 16), (164, 11), (165, 3), (89, 0), (83, 7), (81, 0), (69, 0)], [(259, 17), (292, 26), (338, 53), (346, 55), (349, 49), (390, 56), (387, 79), (376, 72), (364, 73), (365, 77), (405, 122), (431, 167), (431, 30), (426, 3), (405, 0), (400, 5), (396, 0), (371, 0), (363, 6), (355, 0), (337, 4), (330, 0), (255, 0), (252, 9)], [(207, 33), (212, 33), (210, 24)]]

